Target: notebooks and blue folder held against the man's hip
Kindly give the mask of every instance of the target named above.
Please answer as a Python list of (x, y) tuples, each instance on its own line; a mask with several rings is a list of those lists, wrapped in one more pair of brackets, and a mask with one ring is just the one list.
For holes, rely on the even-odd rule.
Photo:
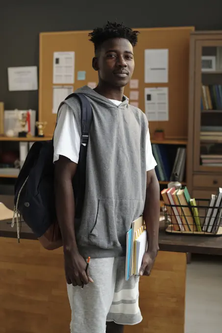
[(126, 234), (126, 261), (125, 280), (130, 276), (139, 275), (143, 256), (147, 251), (147, 230), (143, 216), (132, 222), (130, 230)]

